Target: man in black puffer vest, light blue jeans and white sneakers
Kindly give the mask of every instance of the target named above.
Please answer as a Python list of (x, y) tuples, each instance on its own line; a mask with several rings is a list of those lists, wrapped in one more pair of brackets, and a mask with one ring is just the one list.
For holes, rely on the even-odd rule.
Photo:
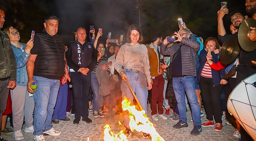
[[(33, 94), (35, 101), (34, 141), (46, 141), (43, 134), (59, 136), (52, 128), (52, 114), (59, 90), (59, 80), (65, 72), (65, 81), (70, 81), (67, 63), (64, 60), (64, 44), (57, 34), (59, 18), (46, 16), (43, 31), (35, 34), (34, 46), (27, 62), (28, 91), (30, 84), (37, 83)], [(44, 131), (44, 132), (43, 132)]]

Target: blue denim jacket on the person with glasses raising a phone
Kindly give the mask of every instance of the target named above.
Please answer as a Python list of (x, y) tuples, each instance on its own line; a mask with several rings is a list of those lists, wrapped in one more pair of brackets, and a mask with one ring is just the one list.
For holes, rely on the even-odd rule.
[(22, 49), (11, 44), (11, 48), (13, 49), (15, 60), (17, 63), (16, 85), (26, 86), (27, 82), (28, 82), (26, 63), (28, 61), (28, 57), (30, 56), (30, 53), (29, 54), (26, 53), (26, 51), (25, 51), (26, 44), (25, 43), (20, 43), (20, 45), (22, 46)]

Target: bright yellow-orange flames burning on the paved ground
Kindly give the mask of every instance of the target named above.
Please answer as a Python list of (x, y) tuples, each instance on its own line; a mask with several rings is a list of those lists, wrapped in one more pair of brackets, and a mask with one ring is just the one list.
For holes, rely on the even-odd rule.
[[(131, 102), (128, 101), (127, 98), (124, 98), (124, 100), (122, 101), (122, 109), (124, 111), (128, 110), (128, 112), (130, 113), (130, 129), (132, 131), (136, 130), (138, 132), (150, 134), (150, 136), (152, 137), (152, 141), (164, 141), (164, 139), (158, 134), (158, 132), (156, 132), (156, 129), (154, 128), (153, 124), (149, 121), (148, 117), (145, 115), (145, 111), (138, 111), (136, 110), (134, 105), (130, 104)], [(121, 123), (119, 122), (119, 124)], [(126, 139), (125, 134), (123, 134), (122, 130), (119, 134), (115, 135), (113, 134), (113, 132), (110, 132), (109, 125), (106, 125), (104, 128), (104, 141), (128, 141)], [(124, 138), (121, 138), (121, 136), (123, 135)]]

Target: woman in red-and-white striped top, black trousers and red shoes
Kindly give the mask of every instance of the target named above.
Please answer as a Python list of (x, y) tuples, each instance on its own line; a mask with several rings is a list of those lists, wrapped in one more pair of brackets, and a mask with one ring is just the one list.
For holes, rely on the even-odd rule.
[[(222, 109), (221, 109), (221, 91), (223, 85), (227, 84), (227, 81), (223, 79), (224, 69), (214, 71), (206, 61), (206, 55), (211, 54), (215, 63), (219, 61), (219, 54), (215, 54), (215, 50), (219, 49), (219, 43), (216, 38), (208, 38), (204, 42), (204, 49), (199, 55), (199, 68), (197, 75), (197, 82), (202, 91), (202, 98), (204, 102), (204, 108), (206, 110), (207, 121), (202, 124), (202, 127), (214, 126), (213, 116), (216, 122), (215, 131), (222, 130)], [(221, 74), (221, 75), (220, 75)]]

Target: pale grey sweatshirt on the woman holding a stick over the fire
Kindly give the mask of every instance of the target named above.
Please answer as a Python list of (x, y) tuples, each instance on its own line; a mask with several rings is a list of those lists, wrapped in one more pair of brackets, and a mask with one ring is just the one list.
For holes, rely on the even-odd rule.
[(144, 72), (147, 82), (151, 83), (148, 50), (145, 45), (139, 43), (135, 46), (132, 43), (122, 45), (115, 59), (115, 69), (117, 72), (123, 71), (122, 66), (124, 66), (124, 69)]

